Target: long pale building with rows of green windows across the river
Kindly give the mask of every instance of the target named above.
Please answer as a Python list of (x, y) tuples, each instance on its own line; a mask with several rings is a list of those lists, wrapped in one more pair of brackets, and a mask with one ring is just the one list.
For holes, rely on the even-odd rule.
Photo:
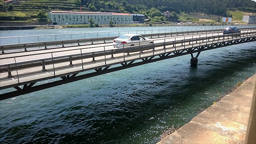
[(47, 16), (52, 24), (90, 24), (93, 19), (97, 24), (132, 24), (131, 13), (100, 13), (100, 12), (75, 12), (75, 11), (50, 11)]

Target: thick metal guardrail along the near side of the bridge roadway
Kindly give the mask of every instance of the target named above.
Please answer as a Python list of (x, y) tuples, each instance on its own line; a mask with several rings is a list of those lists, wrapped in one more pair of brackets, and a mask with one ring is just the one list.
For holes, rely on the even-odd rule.
[[(241, 35), (243, 35), (243, 38), (250, 37), (251, 35), (255, 36), (255, 34), (256, 34), (255, 31), (241, 33)], [(44, 58), (44, 59), (36, 59), (36, 60), (32, 60), (32, 61), (24, 61), (24, 62), (19, 62), (19, 63), (16, 63), (16, 60), (15, 60), (15, 63), (0, 65), (0, 73), (8, 72), (8, 77), (10, 77), (10, 76), (12, 76), (12, 72), (17, 72), (18, 79), (19, 79), (18, 70), (22, 70), (22, 69), (26, 69), (26, 68), (35, 68), (35, 67), (40, 67), (40, 66), (42, 67), (42, 70), (46, 70), (45, 66), (53, 65), (53, 71), (54, 71), (54, 75), (55, 75), (55, 70), (58, 70), (59, 68), (63, 68), (63, 66), (54, 68), (54, 65), (56, 65), (58, 63), (69, 63), (68, 66), (70, 66), (70, 65), (73, 65), (72, 61), (82, 60), (81, 62), (83, 63), (83, 59), (91, 59), (92, 61), (95, 61), (96, 57), (105, 56), (105, 59), (102, 59), (102, 60), (105, 61), (105, 65), (106, 65), (106, 55), (111, 55), (111, 57), (114, 57), (113, 56), (114, 54), (121, 54), (121, 53), (129, 54), (131, 52), (140, 52), (141, 53), (144, 50), (153, 50), (153, 53), (154, 53), (154, 49), (156, 47), (160, 47), (160, 46), (163, 46), (163, 48), (165, 49), (166, 46), (173, 45), (174, 50), (176, 50), (176, 44), (181, 44), (181, 46), (182, 47), (184, 46), (184, 49), (186, 49), (185, 43), (188, 43), (188, 42), (189, 42), (189, 45), (191, 45), (193, 47), (193, 44), (198, 44), (198, 41), (199, 41), (199, 45), (201, 45), (201, 44), (205, 44), (205, 43), (207, 44), (207, 41), (210, 41), (210, 39), (212, 39), (212, 42), (215, 39), (218, 39), (218, 42), (219, 42), (220, 38), (223, 38), (223, 41), (224, 41), (225, 37), (227, 37), (226, 40), (229, 41), (230, 36), (232, 36), (232, 39), (234, 39), (233, 38), (234, 36), (237, 36), (237, 37), (240, 36), (240, 38), (242, 38), (239, 33), (233, 33), (233, 34), (228, 34), (228, 35), (208, 36), (208, 37), (207, 37), (207, 34), (202, 34), (202, 35), (204, 35), (204, 37), (199, 37), (199, 38), (192, 37), (192, 39), (185, 39), (186, 37), (191, 37), (191, 36), (184, 36), (184, 39), (176, 40), (176, 38), (175, 38), (174, 41), (166, 41), (167, 39), (173, 39), (173, 38), (166, 38), (166, 39), (164, 39), (164, 42), (160, 42), (160, 43), (153, 43), (153, 44), (146, 44), (146, 45), (139, 45), (139, 46), (130, 46), (130, 47), (124, 47), (124, 48), (112, 49), (112, 50), (105, 50), (105, 46), (103, 46), (104, 50), (95, 51), (95, 52), (82, 53), (82, 49), (80, 49), (80, 52), (81, 52), (80, 54), (64, 55), (64, 56), (57, 56), (57, 57), (53, 57), (53, 54), (56, 52), (48, 52), (48, 53), (44, 53), (44, 54), (51, 54), (52, 57), (48, 57), (48, 58)], [(205, 35), (206, 35), (206, 37), (205, 37)], [(191, 44), (191, 42), (192, 42), (192, 44)], [(100, 46), (100, 47), (102, 47), (102, 46)], [(83, 49), (87, 49), (87, 48), (83, 48)], [(69, 51), (69, 50), (66, 50), (66, 51)], [(31, 54), (31, 55), (38, 55), (38, 54)], [(31, 56), (31, 55), (25, 55), (25, 56)], [(24, 57), (24, 56), (17, 56), (17, 57)], [(13, 58), (15, 59), (17, 57), (13, 57)], [(8, 57), (8, 58), (10, 58), (10, 57)], [(5, 58), (3, 58), (3, 59), (5, 59)], [(125, 61), (125, 59), (124, 59), (124, 61)], [(67, 66), (64, 66), (64, 67), (67, 67)], [(36, 71), (36, 72), (39, 72), (39, 71)], [(34, 72), (34, 73), (36, 73), (36, 72)], [(20, 76), (21, 75), (22, 74), (20, 74)]]

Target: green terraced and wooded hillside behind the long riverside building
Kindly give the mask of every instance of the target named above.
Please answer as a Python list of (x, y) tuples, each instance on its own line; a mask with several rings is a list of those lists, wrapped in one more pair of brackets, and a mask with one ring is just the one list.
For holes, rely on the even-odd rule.
[[(236, 15), (238, 19), (241, 19), (241, 14), (233, 11), (256, 13), (256, 2), (252, 0), (22, 0), (20, 4), (7, 6), (0, 0), (0, 20), (45, 19), (50, 10), (80, 11), (80, 6), (82, 11), (140, 13), (149, 22), (174, 21), (178, 18), (180, 21), (199, 22), (199, 18), (192, 17), (191, 13), (219, 17)], [(165, 11), (171, 12), (171, 18), (163, 17)]]

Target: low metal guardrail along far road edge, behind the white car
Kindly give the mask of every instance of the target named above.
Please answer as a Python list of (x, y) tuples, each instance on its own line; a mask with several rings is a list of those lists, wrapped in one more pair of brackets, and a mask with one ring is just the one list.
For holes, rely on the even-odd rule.
[[(240, 30), (256, 30), (256, 28), (241, 28)], [(192, 35), (192, 34), (200, 34), (200, 33), (217, 33), (222, 32), (222, 29), (214, 29), (214, 30), (198, 30), (198, 31), (179, 31), (179, 32), (167, 32), (167, 33), (153, 33), (153, 34), (144, 34), (144, 37), (161, 37), (161, 36), (173, 36), (173, 35)], [(4, 51), (10, 50), (24, 50), (27, 51), (28, 48), (49, 48), (52, 46), (59, 46), (60, 48), (64, 48), (65, 44), (77, 46), (83, 44), (93, 44), (93, 42), (104, 42), (106, 41), (113, 41), (117, 37), (100, 37), (100, 38), (88, 38), (88, 39), (74, 39), (74, 40), (65, 40), (65, 41), (48, 41), (48, 42), (33, 42), (33, 43), (24, 43), (24, 44), (8, 44), (8, 45), (1, 45), (0, 51), (4, 54)]]

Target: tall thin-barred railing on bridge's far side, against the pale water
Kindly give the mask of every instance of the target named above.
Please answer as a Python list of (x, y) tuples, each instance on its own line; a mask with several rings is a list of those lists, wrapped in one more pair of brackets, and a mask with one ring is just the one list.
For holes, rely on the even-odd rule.
[[(92, 33), (63, 33), (51, 35), (29, 35), (17, 37), (0, 37), (0, 45), (6, 44), (25, 44), (32, 42), (46, 42), (46, 41), (65, 41), (74, 39), (87, 39), (99, 37), (119, 37), (126, 33), (135, 33), (139, 35), (153, 34), (153, 33), (170, 33), (182, 31), (202, 31), (202, 30), (223, 30), (225, 26), (208, 26), (208, 27), (180, 27), (168, 29), (155, 30), (136, 30), (136, 31), (106, 31), (106, 32), (92, 32)], [(253, 25), (237, 26), (237, 28), (254, 28)]]

